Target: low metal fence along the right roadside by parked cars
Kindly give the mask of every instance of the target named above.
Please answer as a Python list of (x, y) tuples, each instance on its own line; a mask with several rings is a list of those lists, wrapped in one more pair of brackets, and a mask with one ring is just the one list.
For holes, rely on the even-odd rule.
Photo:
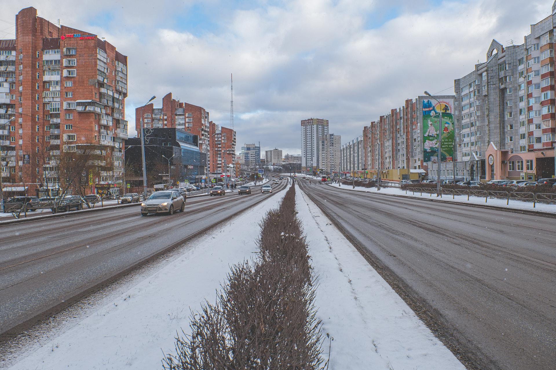
[[(411, 186), (409, 189), (405, 189), (405, 194), (408, 194), (408, 191), (415, 194), (416, 192), (419, 195), (436, 194), (435, 187), (419, 187), (419, 186)], [(479, 190), (479, 189), (445, 189), (444, 187), (440, 188), (440, 197), (443, 195), (451, 195), (452, 199), (455, 199), (456, 195), (467, 195), (467, 200), (469, 200), (470, 196), (477, 196), (477, 197), (484, 197), (485, 203), (488, 202), (488, 199), (505, 199), (506, 204), (510, 204), (511, 200), (519, 200), (519, 201), (529, 201), (533, 202), (533, 208), (537, 205), (537, 203), (543, 204), (556, 204), (556, 193), (544, 193), (544, 192), (528, 192), (528, 191), (500, 191), (500, 190)]]

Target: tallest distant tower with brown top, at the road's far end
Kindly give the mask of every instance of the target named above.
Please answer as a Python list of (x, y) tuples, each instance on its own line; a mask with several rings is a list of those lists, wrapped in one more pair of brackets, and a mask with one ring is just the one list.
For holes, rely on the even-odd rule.
[(328, 120), (301, 120), (301, 171), (316, 174), (320, 168), (320, 136), (328, 135)]

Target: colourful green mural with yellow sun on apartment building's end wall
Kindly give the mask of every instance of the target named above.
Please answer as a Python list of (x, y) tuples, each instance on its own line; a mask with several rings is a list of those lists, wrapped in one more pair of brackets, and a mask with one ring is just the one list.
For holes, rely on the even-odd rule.
[[(428, 162), (438, 153), (438, 130), (442, 130), (441, 160), (451, 161), (454, 156), (454, 100), (422, 99), (423, 101), (423, 161)], [(442, 110), (442, 122), (440, 120)]]

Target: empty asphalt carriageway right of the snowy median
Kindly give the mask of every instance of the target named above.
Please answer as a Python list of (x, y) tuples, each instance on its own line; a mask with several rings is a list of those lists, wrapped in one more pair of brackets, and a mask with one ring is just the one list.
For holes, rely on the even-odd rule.
[(556, 369), (556, 219), (302, 190), (473, 369)]

